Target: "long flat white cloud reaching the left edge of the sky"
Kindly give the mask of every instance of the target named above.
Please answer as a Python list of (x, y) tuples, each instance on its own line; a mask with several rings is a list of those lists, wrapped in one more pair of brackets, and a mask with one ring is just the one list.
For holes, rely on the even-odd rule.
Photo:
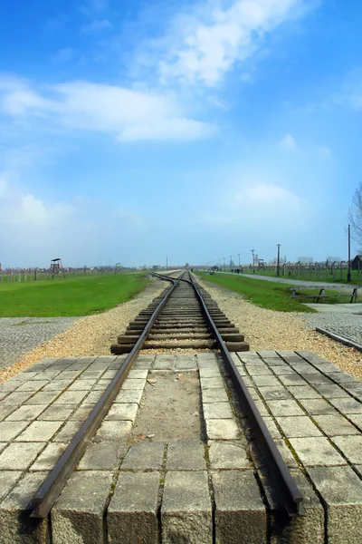
[(213, 125), (188, 119), (172, 96), (115, 85), (71, 82), (42, 90), (18, 78), (0, 78), (0, 113), (46, 119), (72, 130), (113, 133), (119, 141), (197, 140), (214, 134)]

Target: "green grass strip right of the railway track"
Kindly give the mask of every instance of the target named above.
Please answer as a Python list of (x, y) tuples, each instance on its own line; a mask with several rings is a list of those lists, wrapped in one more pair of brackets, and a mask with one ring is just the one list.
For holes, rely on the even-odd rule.
[[(279, 312), (314, 312), (310, 307), (304, 306), (298, 300), (291, 298), (291, 293), (287, 290), (287, 287), (291, 286), (287, 284), (217, 273), (214, 276), (204, 273), (198, 275), (205, 281), (217, 284), (220, 287), (226, 287), (243, 295), (244, 298), (256, 306)], [(310, 291), (310, 293), (314, 294), (314, 291)], [(334, 291), (334, 293), (336, 292)]]

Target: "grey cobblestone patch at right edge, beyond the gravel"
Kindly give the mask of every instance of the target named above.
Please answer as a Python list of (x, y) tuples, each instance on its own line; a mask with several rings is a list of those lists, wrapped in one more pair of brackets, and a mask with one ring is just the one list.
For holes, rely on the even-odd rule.
[(331, 333), (348, 338), (348, 340), (357, 342), (357, 344), (362, 344), (362, 316), (326, 312), (323, 314), (305, 314), (303, 315), (303, 319), (311, 329), (315, 329), (318, 326)]

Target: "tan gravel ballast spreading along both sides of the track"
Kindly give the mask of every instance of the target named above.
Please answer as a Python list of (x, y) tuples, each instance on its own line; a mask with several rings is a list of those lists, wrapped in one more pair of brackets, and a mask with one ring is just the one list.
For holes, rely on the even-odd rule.
[[(197, 281), (214, 297), (220, 309), (234, 325), (239, 327), (251, 350), (311, 350), (353, 374), (358, 380), (362, 380), (359, 352), (310, 330), (311, 326), (313, 328), (315, 326), (312, 319), (316, 320), (322, 316), (267, 310), (252, 305), (233, 291), (205, 283), (199, 278)], [(117, 336), (123, 334), (129, 322), (166, 287), (166, 282), (154, 280), (143, 293), (129, 302), (97, 316), (81, 317), (60, 335), (28, 352), (18, 363), (1, 370), (0, 382), (45, 357), (110, 355), (110, 345), (115, 343)], [(321, 326), (320, 321), (319, 324)], [(16, 328), (20, 327), (14, 327)], [(159, 350), (165, 351), (174, 353), (173, 350)], [(187, 353), (186, 350), (182, 351)], [(158, 351), (152, 350), (151, 353), (156, 354)]]

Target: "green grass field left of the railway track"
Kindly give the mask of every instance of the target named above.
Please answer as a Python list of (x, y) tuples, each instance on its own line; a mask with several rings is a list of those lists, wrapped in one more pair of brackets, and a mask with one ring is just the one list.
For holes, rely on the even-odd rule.
[(0, 284), (0, 317), (71, 317), (100, 314), (137, 295), (144, 273)]

